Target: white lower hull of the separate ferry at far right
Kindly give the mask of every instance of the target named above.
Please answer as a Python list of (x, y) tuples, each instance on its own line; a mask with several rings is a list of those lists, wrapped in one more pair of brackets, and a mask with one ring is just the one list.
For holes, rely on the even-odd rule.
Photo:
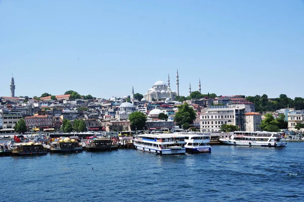
[(241, 146), (258, 146), (258, 147), (285, 147), (286, 142), (268, 143), (259, 141), (236, 141), (236, 140), (223, 140), (219, 139), (220, 142), (227, 145), (241, 145)]

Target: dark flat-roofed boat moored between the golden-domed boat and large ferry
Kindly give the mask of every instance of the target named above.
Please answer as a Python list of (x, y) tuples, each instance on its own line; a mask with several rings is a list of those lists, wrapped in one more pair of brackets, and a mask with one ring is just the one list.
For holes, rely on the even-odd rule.
[(114, 144), (111, 139), (103, 137), (94, 138), (86, 142), (86, 150), (88, 151), (110, 151), (117, 149), (117, 144)]

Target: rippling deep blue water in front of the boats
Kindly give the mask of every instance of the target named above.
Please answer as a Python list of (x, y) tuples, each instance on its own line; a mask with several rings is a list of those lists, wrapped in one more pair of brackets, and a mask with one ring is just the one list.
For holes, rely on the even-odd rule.
[(1, 199), (304, 201), (303, 146), (221, 145), (212, 153), (176, 156), (118, 150), (1, 157)]

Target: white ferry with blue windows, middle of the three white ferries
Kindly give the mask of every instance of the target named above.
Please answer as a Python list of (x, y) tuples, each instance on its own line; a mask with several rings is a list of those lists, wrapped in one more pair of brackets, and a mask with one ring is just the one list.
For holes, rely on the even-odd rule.
[(211, 152), (210, 136), (200, 132), (176, 132), (175, 136), (185, 137), (187, 153)]

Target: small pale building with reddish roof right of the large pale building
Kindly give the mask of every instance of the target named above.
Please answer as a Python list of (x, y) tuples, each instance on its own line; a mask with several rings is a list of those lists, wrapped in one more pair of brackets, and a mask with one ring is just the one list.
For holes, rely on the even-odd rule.
[(260, 131), (259, 125), (262, 122), (262, 114), (256, 112), (248, 112), (244, 114), (244, 130)]

